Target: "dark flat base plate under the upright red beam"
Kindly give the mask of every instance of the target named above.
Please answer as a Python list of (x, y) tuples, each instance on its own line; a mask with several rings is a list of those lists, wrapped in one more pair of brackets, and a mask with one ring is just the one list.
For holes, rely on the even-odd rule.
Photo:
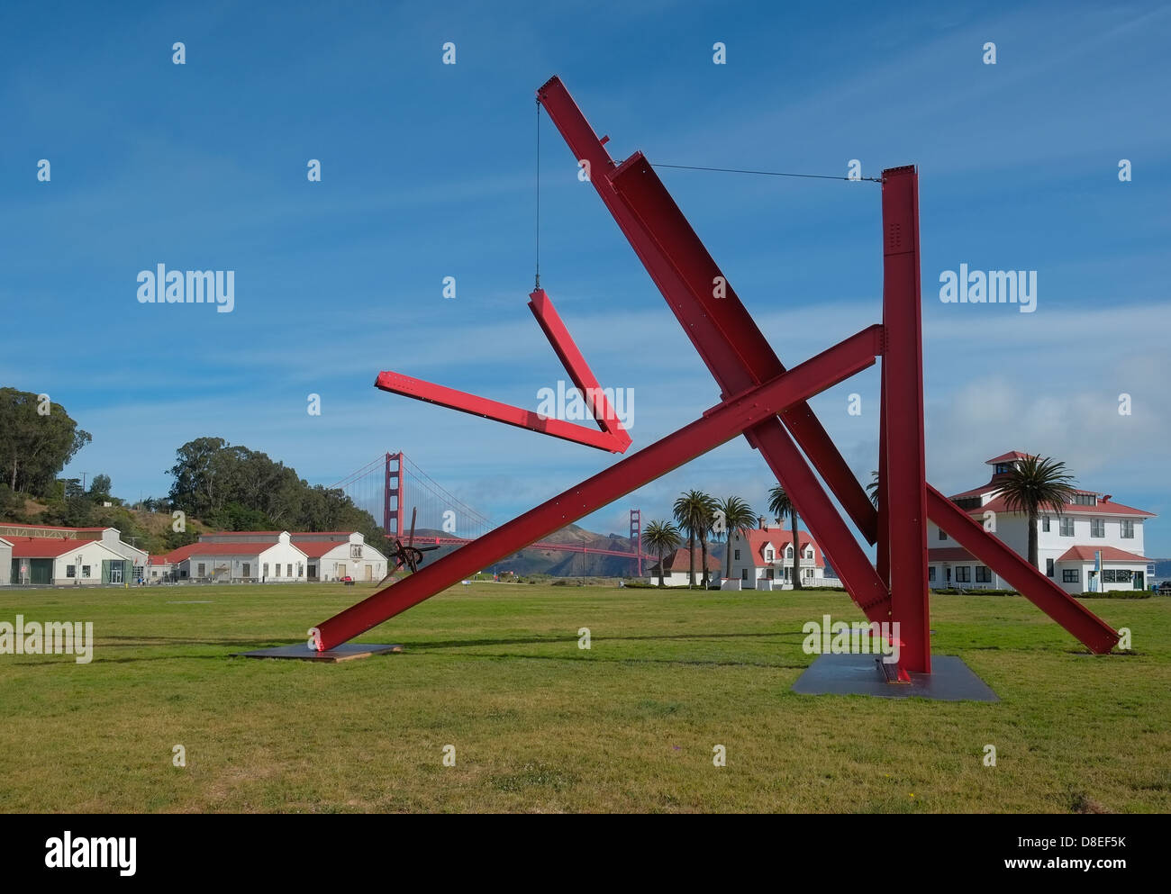
[(889, 683), (876, 655), (819, 655), (793, 692), (802, 695), (877, 695), (882, 699), (998, 702), (997, 694), (956, 655), (932, 655), (930, 674)]

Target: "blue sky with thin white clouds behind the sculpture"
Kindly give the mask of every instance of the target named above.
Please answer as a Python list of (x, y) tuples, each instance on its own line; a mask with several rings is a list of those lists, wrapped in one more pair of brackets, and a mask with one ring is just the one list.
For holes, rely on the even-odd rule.
[[(9, 2), (0, 383), (63, 404), (94, 435), (68, 472), (104, 472), (130, 500), (164, 494), (200, 435), (327, 484), (403, 449), (497, 521), (604, 468), (617, 458), (372, 387), (390, 369), (535, 408), (564, 378), (525, 307), (534, 91), (559, 74), (616, 158), (919, 165), (930, 480), (954, 493), (1005, 451), (1054, 455), (1158, 513), (1146, 553), (1171, 556), (1167, 46), (1171, 9), (1142, 2)], [(634, 390), (637, 449), (718, 390), (540, 126), (542, 284), (602, 384)], [(878, 321), (876, 184), (660, 176), (787, 364)], [(139, 304), (157, 263), (234, 270), (233, 312)], [(1036, 270), (1036, 311), (940, 303), (960, 263)], [(813, 401), (863, 479), (877, 380)], [(738, 440), (584, 524), (624, 531), (629, 507), (662, 516), (690, 487), (762, 508), (771, 483)]]

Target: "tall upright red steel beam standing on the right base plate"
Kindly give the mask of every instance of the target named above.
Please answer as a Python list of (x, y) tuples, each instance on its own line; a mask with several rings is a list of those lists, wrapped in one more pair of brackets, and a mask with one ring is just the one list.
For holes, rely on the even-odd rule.
[(931, 673), (927, 603), (927, 491), (923, 436), (923, 322), (919, 296), (919, 174), (883, 171), (882, 413), (879, 476), (889, 529), (891, 620), (903, 641), (899, 668)]

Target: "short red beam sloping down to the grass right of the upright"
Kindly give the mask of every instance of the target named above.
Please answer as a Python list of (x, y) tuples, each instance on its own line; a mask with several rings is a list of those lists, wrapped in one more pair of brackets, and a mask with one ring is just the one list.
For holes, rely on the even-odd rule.
[(984, 530), (984, 525), (931, 484), (927, 484), (927, 517), (954, 537), (960, 546), (1012, 584), (1033, 605), (1084, 642), (1090, 652), (1105, 654), (1118, 645), (1118, 634), (1109, 624), (1042, 575), (999, 537)]

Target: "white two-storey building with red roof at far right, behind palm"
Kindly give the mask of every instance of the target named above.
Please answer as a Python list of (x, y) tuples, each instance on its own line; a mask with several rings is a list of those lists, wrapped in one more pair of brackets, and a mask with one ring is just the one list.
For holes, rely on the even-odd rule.
[[(992, 529), (1021, 556), (1028, 556), (1028, 517), (1009, 511), (999, 496), (1004, 476), (1026, 454), (1013, 451), (987, 461), (993, 467), (987, 484), (951, 497), (975, 521)], [(1144, 590), (1150, 559), (1143, 556), (1143, 521), (1152, 513), (1115, 503), (1110, 494), (1075, 490), (1071, 502), (1038, 521), (1038, 566), (1070, 593), (1090, 590)], [(1095, 570), (1102, 553), (1102, 580)], [(927, 523), (927, 584), (963, 590), (1012, 590), (992, 569), (973, 558), (940, 528)]]

